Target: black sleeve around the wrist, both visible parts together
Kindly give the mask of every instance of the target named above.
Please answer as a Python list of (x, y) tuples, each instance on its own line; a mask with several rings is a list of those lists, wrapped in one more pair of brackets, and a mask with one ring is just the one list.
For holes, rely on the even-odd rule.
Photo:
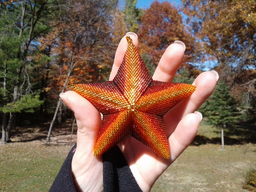
[[(50, 192), (76, 191), (71, 171), (71, 163), (75, 149), (76, 144), (64, 161), (49, 190)], [(142, 191), (118, 146), (113, 147), (103, 154), (103, 191)]]

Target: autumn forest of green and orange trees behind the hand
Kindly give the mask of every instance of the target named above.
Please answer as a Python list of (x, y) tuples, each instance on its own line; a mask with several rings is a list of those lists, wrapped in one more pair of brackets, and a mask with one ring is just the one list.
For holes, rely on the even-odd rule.
[(124, 7), (118, 0), (0, 0), (1, 143), (11, 141), (15, 126), (58, 126), (74, 118), (59, 94), (72, 83), (108, 81), (128, 31), (138, 34), (151, 73), (175, 40), (186, 45), (175, 82), (192, 83), (205, 70), (219, 73), (216, 90), (199, 109), (207, 121), (225, 129), (255, 126), (255, 1), (181, 2), (154, 1), (141, 9), (136, 0)]

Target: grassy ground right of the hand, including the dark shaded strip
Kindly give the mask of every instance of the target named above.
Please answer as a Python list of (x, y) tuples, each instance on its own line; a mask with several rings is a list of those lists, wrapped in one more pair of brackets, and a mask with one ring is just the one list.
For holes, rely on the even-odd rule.
[(162, 174), (152, 192), (247, 191), (246, 172), (256, 167), (255, 137), (255, 130), (225, 130), (223, 151), (221, 129), (202, 121), (191, 146)]

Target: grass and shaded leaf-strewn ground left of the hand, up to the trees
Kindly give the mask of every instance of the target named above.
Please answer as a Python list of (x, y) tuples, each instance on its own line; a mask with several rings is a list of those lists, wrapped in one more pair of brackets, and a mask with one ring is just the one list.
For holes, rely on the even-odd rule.
[(0, 145), (0, 191), (49, 190), (75, 139), (58, 128), (46, 143), (47, 127), (17, 128), (12, 142)]

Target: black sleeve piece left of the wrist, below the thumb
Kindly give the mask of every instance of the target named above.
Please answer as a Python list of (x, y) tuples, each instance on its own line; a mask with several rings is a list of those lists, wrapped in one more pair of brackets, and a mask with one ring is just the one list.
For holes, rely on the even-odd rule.
[(50, 188), (50, 192), (73, 192), (76, 191), (72, 176), (72, 159), (74, 156), (74, 152), (76, 149), (76, 144), (74, 147), (69, 151), (67, 158), (65, 159), (57, 177), (55, 178), (52, 187)]

